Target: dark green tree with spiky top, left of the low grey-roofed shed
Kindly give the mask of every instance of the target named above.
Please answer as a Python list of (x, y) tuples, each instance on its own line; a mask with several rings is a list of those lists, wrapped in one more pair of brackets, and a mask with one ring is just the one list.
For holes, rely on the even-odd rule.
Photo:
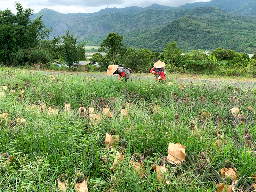
[(68, 67), (73, 68), (74, 64), (78, 64), (81, 59), (85, 59), (85, 50), (83, 48), (85, 42), (77, 45), (77, 37), (74, 37), (74, 34), (71, 34), (70, 36), (68, 30), (66, 31), (66, 35), (62, 35), (61, 38), (63, 39), (63, 44), (61, 47), (65, 56), (65, 62)]

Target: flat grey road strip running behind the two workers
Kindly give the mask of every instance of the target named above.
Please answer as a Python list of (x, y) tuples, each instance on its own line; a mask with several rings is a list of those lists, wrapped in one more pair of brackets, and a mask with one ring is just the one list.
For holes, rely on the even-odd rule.
[[(73, 74), (73, 75), (84, 75), (87, 77), (108, 77), (104, 73), (82, 73), (82, 72), (56, 72), (56, 71), (36, 71), (36, 72), (42, 72), (42, 73), (47, 73), (50, 74), (52, 73), (53, 75), (56, 74)], [(236, 80), (236, 79), (237, 80)], [(152, 79), (154, 80), (154, 77), (152, 74), (132, 74), (131, 79)], [(220, 86), (226, 86), (226, 85), (232, 85), (232, 86), (239, 86), (243, 89), (247, 89), (249, 86), (251, 88), (256, 87), (256, 79), (239, 79), (239, 77), (234, 77), (234, 78), (198, 78), (198, 76), (182, 76), (177, 77), (177, 75), (170, 75), (167, 77), (167, 81), (176, 81), (177, 83), (183, 83), (187, 84), (190, 83), (191, 81), (193, 84), (207, 84), (208, 86), (213, 86), (214, 84), (217, 84), (219, 87)]]

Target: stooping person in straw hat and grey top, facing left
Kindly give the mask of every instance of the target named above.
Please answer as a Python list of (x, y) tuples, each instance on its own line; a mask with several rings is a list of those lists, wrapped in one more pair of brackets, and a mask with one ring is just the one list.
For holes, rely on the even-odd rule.
[(119, 67), (118, 65), (109, 65), (107, 70), (107, 75), (116, 75), (119, 77), (117, 80), (122, 81), (125, 79), (127, 81), (131, 77), (131, 72), (127, 68)]

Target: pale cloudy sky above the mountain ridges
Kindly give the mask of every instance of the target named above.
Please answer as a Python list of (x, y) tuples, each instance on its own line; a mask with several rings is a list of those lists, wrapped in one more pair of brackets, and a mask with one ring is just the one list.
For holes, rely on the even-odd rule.
[[(168, 6), (180, 6), (186, 3), (193, 3), (197, 1), (209, 1), (209, 0), (16, 0), (21, 3), (24, 8), (28, 6), (34, 9), (35, 12), (39, 12), (44, 7), (52, 9), (61, 13), (92, 13), (98, 12), (100, 9), (106, 7), (129, 7), (140, 6), (146, 7), (151, 4), (161, 4)], [(15, 13), (13, 0), (0, 0), (0, 10), (10, 9)]]

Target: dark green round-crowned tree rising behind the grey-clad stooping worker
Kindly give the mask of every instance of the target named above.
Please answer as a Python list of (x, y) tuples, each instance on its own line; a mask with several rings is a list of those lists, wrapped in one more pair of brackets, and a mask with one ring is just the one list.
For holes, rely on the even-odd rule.
[(124, 55), (126, 47), (122, 43), (124, 36), (118, 35), (116, 33), (109, 33), (107, 38), (103, 40), (100, 44), (99, 52), (107, 52), (106, 56), (110, 62), (116, 64), (117, 55)]

